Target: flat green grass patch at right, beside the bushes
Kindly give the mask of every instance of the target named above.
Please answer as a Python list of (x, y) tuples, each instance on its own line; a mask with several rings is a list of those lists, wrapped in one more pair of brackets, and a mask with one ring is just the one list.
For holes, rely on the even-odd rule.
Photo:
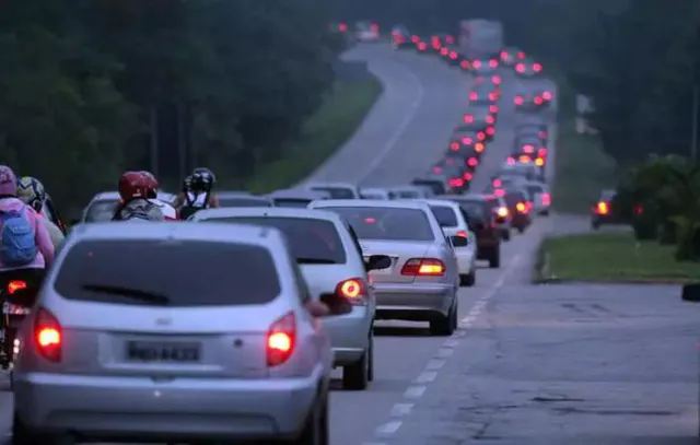
[(536, 282), (686, 283), (700, 281), (693, 262), (677, 262), (675, 246), (638, 242), (630, 232), (546, 238)]

